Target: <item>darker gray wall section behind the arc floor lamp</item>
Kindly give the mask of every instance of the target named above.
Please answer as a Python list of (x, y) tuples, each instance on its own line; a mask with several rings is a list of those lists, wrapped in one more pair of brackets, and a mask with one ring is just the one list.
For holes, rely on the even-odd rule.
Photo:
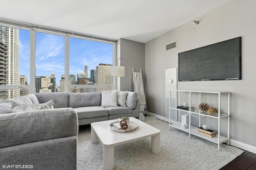
[[(141, 68), (145, 88), (145, 43), (139, 43), (127, 39), (119, 39), (117, 43), (117, 48), (117, 58), (121, 57), (126, 59), (128, 64), (130, 65), (131, 91), (134, 91), (132, 68), (134, 68), (134, 72), (140, 72)], [(117, 82), (117, 84), (120, 84), (120, 86), (117, 88), (122, 91), (129, 91), (129, 69), (126, 61), (123, 59), (118, 60), (118, 62), (121, 62), (121, 66), (125, 67), (125, 76), (117, 78), (117, 81), (120, 80), (120, 83)]]

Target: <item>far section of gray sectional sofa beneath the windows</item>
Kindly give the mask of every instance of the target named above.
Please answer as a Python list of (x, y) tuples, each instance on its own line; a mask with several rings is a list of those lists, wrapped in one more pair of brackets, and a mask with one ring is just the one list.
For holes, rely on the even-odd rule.
[[(117, 92), (117, 91), (116, 91)], [(78, 115), (78, 125), (118, 117), (139, 117), (139, 101), (136, 92), (127, 92), (126, 106), (102, 107), (102, 92), (91, 93), (36, 93), (39, 103), (54, 101), (54, 108), (72, 107)], [(109, 98), (107, 97), (107, 100)]]

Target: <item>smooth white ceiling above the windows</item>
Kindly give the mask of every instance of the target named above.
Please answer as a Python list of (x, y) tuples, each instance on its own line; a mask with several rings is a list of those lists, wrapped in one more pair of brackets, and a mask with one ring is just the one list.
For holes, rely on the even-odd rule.
[(0, 18), (146, 43), (228, 1), (5, 0)]

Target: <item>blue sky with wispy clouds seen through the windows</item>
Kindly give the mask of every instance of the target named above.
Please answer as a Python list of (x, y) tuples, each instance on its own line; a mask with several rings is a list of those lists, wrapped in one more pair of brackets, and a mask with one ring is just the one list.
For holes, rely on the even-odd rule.
[[(19, 55), (20, 75), (28, 77), (30, 82), (30, 33), (20, 29)], [(60, 85), (61, 75), (65, 71), (65, 37), (36, 32), (36, 76), (50, 76), (55, 73), (56, 83)], [(112, 44), (70, 38), (69, 74), (84, 72), (84, 65), (90, 70), (96, 69), (100, 63), (112, 64)]]

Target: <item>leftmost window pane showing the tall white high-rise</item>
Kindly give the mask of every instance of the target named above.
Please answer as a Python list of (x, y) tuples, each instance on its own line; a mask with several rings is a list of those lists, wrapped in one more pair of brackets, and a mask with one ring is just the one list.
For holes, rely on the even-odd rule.
[[(29, 84), (30, 31), (0, 26), (0, 85)], [(26, 91), (26, 92), (25, 92)], [(0, 100), (28, 93), (28, 90), (0, 90)]]

